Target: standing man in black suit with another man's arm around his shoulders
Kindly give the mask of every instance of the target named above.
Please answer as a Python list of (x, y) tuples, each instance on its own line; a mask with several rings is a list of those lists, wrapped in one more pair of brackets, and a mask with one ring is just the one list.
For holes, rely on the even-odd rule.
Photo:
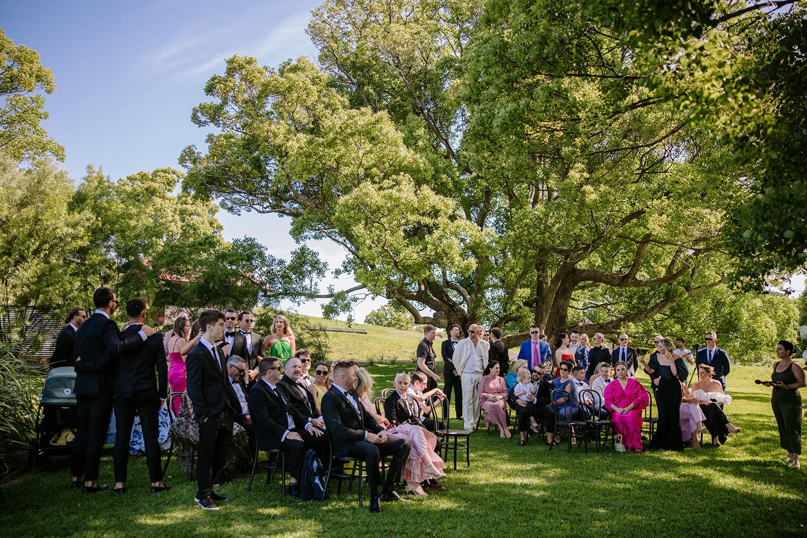
[[(129, 326), (120, 333), (124, 338), (136, 335), (146, 317), (146, 300), (133, 298), (126, 302)], [(157, 376), (154, 372), (157, 369)], [(126, 492), (126, 477), (129, 461), (129, 441), (132, 440), (132, 424), (135, 411), (140, 415), (143, 429), (143, 444), (146, 452), (148, 475), (152, 493), (169, 490), (162, 483), (160, 444), (157, 441), (159, 423), (157, 412), (168, 396), (168, 367), (165, 365), (165, 348), (162, 334), (155, 332), (146, 343), (120, 354), (115, 373), (115, 487), (117, 493)]]

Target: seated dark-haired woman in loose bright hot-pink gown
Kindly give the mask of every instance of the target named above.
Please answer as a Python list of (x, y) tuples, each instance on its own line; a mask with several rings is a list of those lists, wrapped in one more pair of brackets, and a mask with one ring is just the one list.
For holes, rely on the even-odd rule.
[(628, 450), (642, 450), (642, 410), (650, 403), (650, 397), (641, 383), (628, 377), (624, 362), (617, 362), (617, 378), (608, 383), (604, 395), (614, 434), (621, 434)]

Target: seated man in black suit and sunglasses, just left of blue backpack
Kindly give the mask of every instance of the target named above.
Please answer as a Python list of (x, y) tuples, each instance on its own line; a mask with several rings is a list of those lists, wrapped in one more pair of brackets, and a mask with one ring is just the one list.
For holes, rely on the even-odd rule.
[(289, 493), (299, 497), (305, 453), (313, 448), (322, 457), (328, 452), (328, 438), (288, 401), (286, 391), (279, 386), (282, 369), (278, 357), (268, 357), (258, 364), (260, 378), (249, 391), (249, 414), (255, 424), (258, 447), (279, 448), (289, 457)]

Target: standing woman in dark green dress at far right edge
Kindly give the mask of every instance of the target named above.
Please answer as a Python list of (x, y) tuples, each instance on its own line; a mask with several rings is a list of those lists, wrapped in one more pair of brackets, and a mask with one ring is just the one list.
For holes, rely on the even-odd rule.
[(773, 365), (771, 381), (773, 394), (771, 394), (771, 407), (776, 417), (776, 426), (779, 427), (779, 443), (788, 451), (785, 464), (791, 469), (801, 469), (799, 454), (801, 454), (801, 394), (799, 388), (805, 386), (805, 372), (801, 365), (793, 362), (792, 356), (796, 352), (792, 342), (779, 340), (776, 346), (776, 356), (780, 361)]

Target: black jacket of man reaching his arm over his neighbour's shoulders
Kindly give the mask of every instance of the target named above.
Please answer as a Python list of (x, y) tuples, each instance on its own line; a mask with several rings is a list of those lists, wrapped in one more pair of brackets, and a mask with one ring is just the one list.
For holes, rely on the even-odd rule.
[(143, 339), (135, 333), (123, 338), (115, 323), (103, 314), (93, 314), (78, 327), (76, 332), (75, 357), (76, 394), (98, 394), (113, 388), (114, 361), (120, 353), (143, 345)]

